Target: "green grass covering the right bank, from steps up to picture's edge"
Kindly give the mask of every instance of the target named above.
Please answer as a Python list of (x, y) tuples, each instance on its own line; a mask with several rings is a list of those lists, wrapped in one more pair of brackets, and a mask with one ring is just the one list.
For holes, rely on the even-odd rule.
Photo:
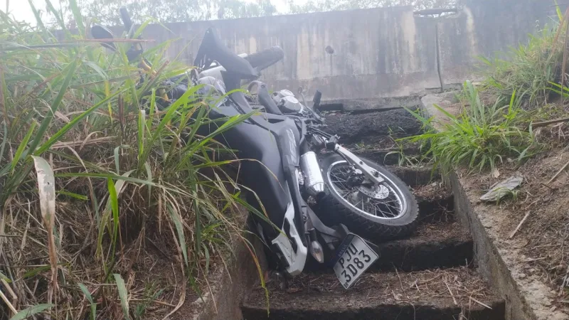
[(541, 120), (567, 117), (563, 108), (549, 105), (569, 97), (569, 11), (563, 14), (558, 8), (557, 13), (559, 20), (553, 28), (546, 26), (530, 36), (526, 45), (506, 53), (507, 58), (481, 58), (486, 64), (485, 80), (480, 87), (465, 82), (458, 95), (462, 103), (459, 114), (435, 106), (449, 119), (438, 122), (435, 130), (432, 124), (437, 120), (412, 112), (427, 132), (401, 141), (420, 142), (424, 159), (442, 169), (491, 169), (496, 176), (499, 164), (521, 164), (543, 150), (547, 144), (538, 143), (534, 126), (549, 123)]

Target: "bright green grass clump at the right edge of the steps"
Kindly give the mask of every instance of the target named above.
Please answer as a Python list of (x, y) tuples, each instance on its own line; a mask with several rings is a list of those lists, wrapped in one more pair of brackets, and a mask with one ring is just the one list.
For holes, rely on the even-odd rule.
[(468, 97), (467, 105), (458, 115), (435, 106), (449, 119), (439, 122), (438, 131), (432, 129), (435, 119), (410, 111), (427, 132), (401, 140), (425, 145), (425, 156), (446, 171), (456, 166), (466, 166), (470, 171), (494, 170), (496, 164), (506, 159), (519, 162), (539, 151), (532, 132), (519, 128), (523, 95), (518, 97), (514, 92), (509, 100), (499, 97), (494, 105), (485, 105), (471, 82), (464, 83), (464, 94)]

